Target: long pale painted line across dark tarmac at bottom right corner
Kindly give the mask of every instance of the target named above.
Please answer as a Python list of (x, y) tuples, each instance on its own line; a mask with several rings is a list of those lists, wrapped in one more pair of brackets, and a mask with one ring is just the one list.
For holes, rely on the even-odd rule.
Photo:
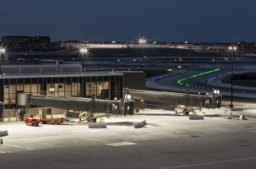
[(161, 169), (191, 168), (191, 167), (200, 166), (200, 165), (213, 165), (213, 164), (221, 164), (221, 163), (225, 163), (225, 162), (238, 162), (238, 161), (245, 161), (245, 160), (256, 160), (256, 157), (239, 158), (239, 159), (235, 159), (235, 160), (222, 160), (222, 161), (213, 161), (213, 162), (202, 162), (202, 163), (190, 164), (190, 165), (177, 165), (177, 166), (161, 168)]

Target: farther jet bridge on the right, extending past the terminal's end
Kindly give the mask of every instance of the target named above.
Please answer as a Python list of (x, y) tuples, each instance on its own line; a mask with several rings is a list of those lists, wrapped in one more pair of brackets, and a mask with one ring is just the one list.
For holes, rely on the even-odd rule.
[(124, 96), (135, 100), (135, 108), (145, 108), (145, 105), (156, 105), (174, 110), (176, 105), (221, 108), (222, 96), (217, 93), (208, 95), (191, 95), (177, 92), (156, 92), (148, 90), (129, 90), (124, 89)]

